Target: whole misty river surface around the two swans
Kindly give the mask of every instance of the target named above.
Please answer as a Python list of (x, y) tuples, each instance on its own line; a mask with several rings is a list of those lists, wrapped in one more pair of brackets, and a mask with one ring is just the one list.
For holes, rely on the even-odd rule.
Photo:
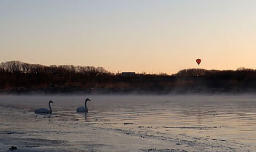
[[(77, 107), (84, 106), (85, 98), (92, 100), (87, 103), (89, 113), (76, 113)], [(37, 108), (49, 108), (49, 100), (54, 102), (52, 114), (38, 115), (33, 112)], [(30, 149), (39, 148), (43, 151), (55, 146), (58, 151), (58, 146), (62, 145), (62, 148), (68, 151), (79, 151), (84, 148), (79, 140), (87, 143), (91, 139), (91, 146), (87, 143), (89, 149), (111, 151), (111, 148), (124, 148), (124, 143), (115, 142), (115, 139), (112, 139), (113, 142), (103, 140), (111, 139), (113, 136), (103, 132), (125, 135), (127, 137), (124, 139), (127, 142), (136, 142), (135, 137), (142, 138), (139, 143), (134, 143), (133, 150), (142, 147), (146, 147), (147, 150), (150, 146), (155, 146), (156, 149), (161, 149), (161, 146), (170, 148), (166, 147), (170, 145), (169, 142), (176, 146), (208, 146), (208, 151), (211, 151), (212, 146), (212, 151), (223, 151), (225, 148), (241, 151), (239, 147), (243, 146), (248, 147), (250, 151), (250, 147), (256, 146), (256, 95), (252, 94), (2, 95), (0, 109), (0, 145), (4, 145), (4, 138), (15, 139), (14, 144), (25, 149), (27, 144), (35, 146)], [(95, 134), (93, 130), (102, 133)], [(32, 138), (43, 142), (31, 143)], [(22, 143), (18, 139), (28, 142)], [(149, 141), (145, 141), (149, 139), (158, 145), (151, 145)], [(156, 142), (159, 139), (166, 142), (166, 145)], [(105, 146), (95, 146), (97, 144)], [(77, 149), (74, 150), (74, 147)], [(201, 150), (205, 150), (204, 148)]]

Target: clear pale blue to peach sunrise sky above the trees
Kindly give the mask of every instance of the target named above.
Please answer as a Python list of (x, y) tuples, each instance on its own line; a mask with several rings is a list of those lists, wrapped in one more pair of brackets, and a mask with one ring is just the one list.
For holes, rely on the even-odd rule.
[(254, 0), (0, 0), (0, 62), (150, 74), (256, 69), (255, 6)]

